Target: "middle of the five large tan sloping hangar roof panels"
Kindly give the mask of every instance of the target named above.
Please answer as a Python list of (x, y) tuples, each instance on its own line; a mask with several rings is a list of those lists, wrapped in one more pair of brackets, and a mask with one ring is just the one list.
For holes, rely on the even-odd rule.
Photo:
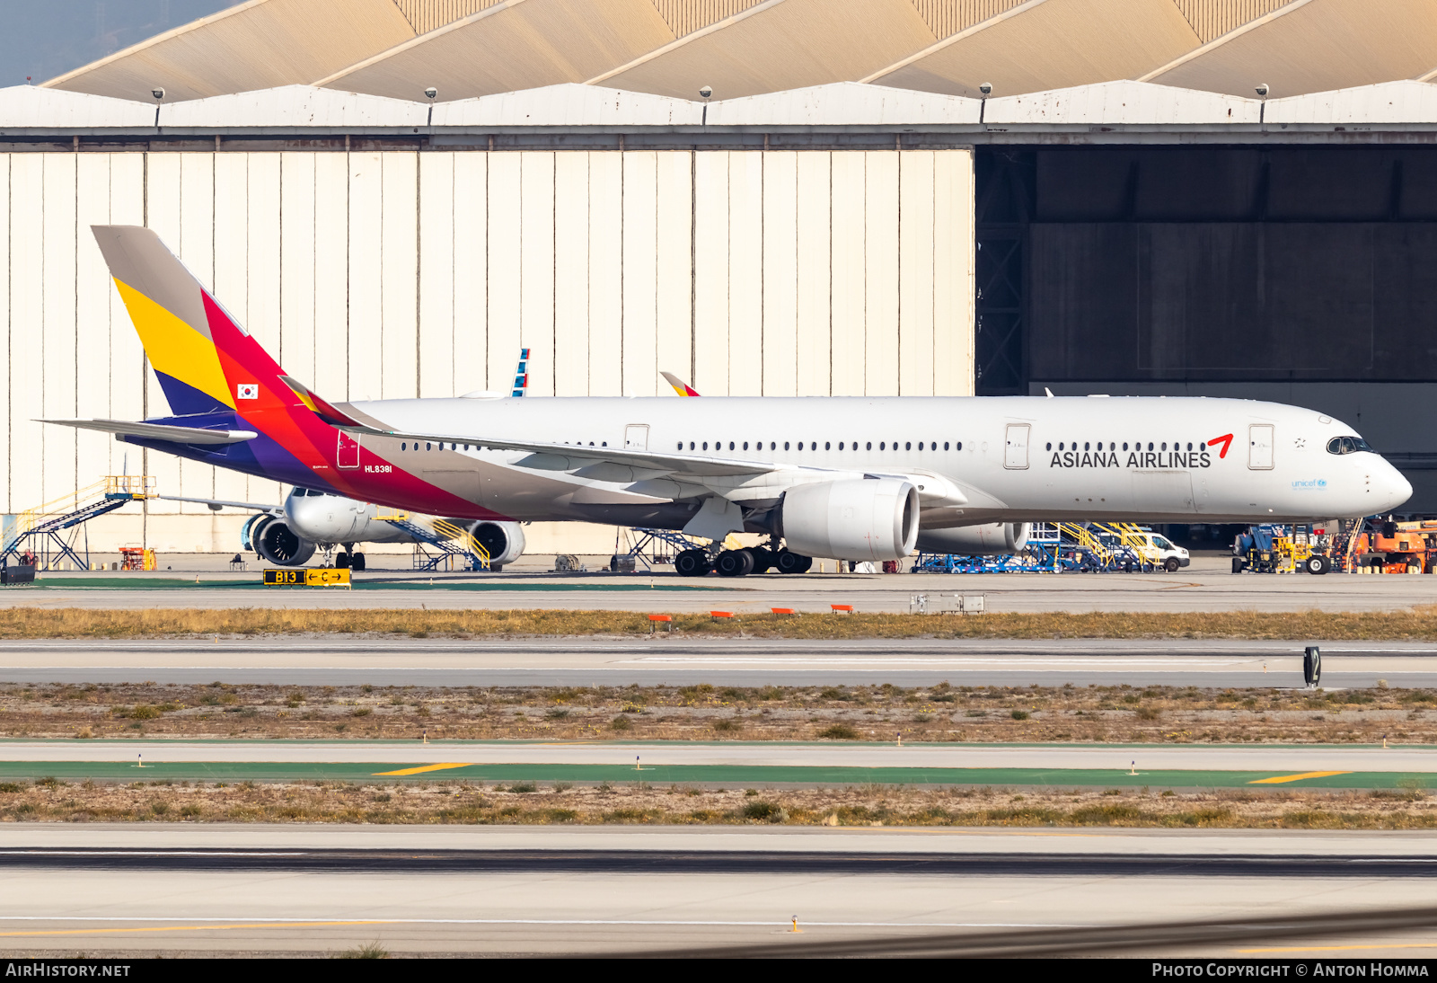
[(935, 40), (910, 0), (766, 0), (589, 82), (736, 99), (858, 80)]

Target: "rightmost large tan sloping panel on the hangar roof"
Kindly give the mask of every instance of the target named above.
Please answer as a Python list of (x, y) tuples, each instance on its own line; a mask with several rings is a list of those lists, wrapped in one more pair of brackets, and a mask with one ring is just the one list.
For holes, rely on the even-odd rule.
[(1431, 0), (1295, 0), (1148, 73), (1145, 82), (1273, 98), (1411, 79), (1437, 66)]

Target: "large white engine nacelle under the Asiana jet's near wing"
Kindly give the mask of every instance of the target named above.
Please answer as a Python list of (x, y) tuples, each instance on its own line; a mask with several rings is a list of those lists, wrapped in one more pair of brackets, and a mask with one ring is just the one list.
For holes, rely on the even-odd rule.
[(799, 484), (785, 492), (779, 525), (805, 556), (902, 559), (918, 536), (918, 489), (902, 479)]

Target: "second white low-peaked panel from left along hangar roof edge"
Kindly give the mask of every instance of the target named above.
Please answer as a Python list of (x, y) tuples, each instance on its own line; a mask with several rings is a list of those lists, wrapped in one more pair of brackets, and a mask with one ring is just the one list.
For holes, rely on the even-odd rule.
[(283, 85), (167, 105), (161, 126), (422, 126), (430, 108), (404, 99)]

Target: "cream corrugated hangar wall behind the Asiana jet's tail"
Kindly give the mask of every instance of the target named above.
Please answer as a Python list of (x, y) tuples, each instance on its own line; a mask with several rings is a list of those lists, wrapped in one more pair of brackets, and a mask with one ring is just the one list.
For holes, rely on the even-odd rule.
[[(6, 513), (126, 466), (168, 494), (280, 496), (34, 423), (165, 411), (96, 223), (155, 229), (329, 398), (506, 389), (520, 345), (533, 397), (662, 395), (660, 369), (708, 395), (971, 392), (964, 149), (13, 152), (0, 188)], [(91, 545), (233, 550), (241, 519), (151, 502)]]

